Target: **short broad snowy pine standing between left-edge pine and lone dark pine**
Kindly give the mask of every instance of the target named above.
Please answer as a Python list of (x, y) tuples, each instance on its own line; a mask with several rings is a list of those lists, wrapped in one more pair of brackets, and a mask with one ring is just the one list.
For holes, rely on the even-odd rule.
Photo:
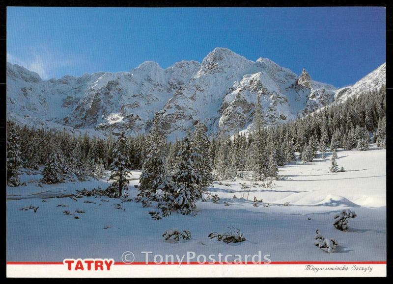
[(64, 181), (63, 176), (64, 158), (59, 148), (53, 147), (48, 162), (42, 171), (42, 181), (44, 183), (59, 183)]

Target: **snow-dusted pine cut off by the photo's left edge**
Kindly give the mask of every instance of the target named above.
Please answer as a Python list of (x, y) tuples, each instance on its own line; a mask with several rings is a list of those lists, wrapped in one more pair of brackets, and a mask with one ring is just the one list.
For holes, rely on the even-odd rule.
[(22, 163), (20, 141), (14, 125), (8, 127), (7, 130), (7, 184), (18, 186), (20, 184), (18, 170)]

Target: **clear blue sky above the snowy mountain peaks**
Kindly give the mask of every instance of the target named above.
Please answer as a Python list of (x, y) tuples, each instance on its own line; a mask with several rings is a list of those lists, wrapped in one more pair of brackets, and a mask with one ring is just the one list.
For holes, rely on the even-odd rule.
[(7, 8), (7, 61), (44, 79), (128, 71), (145, 60), (167, 68), (199, 62), (215, 47), (267, 57), (337, 87), (385, 62), (381, 7)]

